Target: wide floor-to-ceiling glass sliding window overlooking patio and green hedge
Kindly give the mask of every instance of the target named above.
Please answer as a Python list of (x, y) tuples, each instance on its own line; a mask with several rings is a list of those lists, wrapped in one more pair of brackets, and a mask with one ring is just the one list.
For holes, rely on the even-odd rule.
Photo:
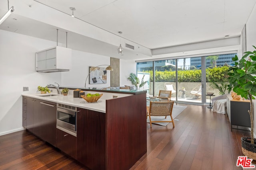
[(210, 99), (206, 92), (213, 92), (215, 96), (228, 92), (227, 72), (234, 64), (232, 57), (235, 55), (236, 53), (227, 53), (138, 62), (137, 72), (149, 74), (150, 96), (158, 96), (159, 90), (166, 90), (168, 85), (172, 88), (172, 100), (209, 103)]

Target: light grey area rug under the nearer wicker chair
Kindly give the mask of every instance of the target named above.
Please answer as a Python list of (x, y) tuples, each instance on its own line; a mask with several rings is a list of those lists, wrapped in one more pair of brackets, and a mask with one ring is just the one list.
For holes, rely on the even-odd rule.
[[(174, 105), (172, 108), (172, 119), (177, 117), (183, 110), (186, 109), (187, 106), (178, 106)], [(165, 116), (152, 116), (151, 121), (166, 121), (166, 120), (171, 120), (170, 116), (167, 116), (165, 119)], [(147, 119), (147, 122), (150, 123), (149, 117)], [(167, 126), (170, 122), (154, 122), (154, 124), (162, 125), (162, 126)]]

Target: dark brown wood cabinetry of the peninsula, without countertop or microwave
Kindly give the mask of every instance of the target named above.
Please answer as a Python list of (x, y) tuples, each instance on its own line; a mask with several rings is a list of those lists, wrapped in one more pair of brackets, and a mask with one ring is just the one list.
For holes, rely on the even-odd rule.
[(77, 108), (76, 137), (56, 129), (55, 103), (27, 98), (25, 107), (28, 130), (91, 170), (130, 169), (146, 154), (146, 92), (106, 100), (105, 113)]

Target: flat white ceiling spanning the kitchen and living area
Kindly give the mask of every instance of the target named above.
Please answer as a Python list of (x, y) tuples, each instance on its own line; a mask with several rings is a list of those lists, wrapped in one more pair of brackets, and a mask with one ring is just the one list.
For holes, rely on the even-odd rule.
[[(7, 4), (7, 0), (1, 1), (0, 5)], [(12, 1), (15, 0), (9, 0), (10, 6)], [(41, 3), (68, 15), (72, 14), (70, 7), (74, 7), (76, 19), (148, 49), (159, 49), (224, 39), (225, 35), (240, 36), (256, 0), (35, 0), (33, 2), (32, 5)], [(14, 9), (15, 5), (17, 4), (13, 5)], [(0, 16), (6, 12), (3, 8), (0, 7)], [(19, 18), (20, 22), (8, 18), (0, 25), (0, 29), (54, 40), (56, 27), (47, 23), (42, 24), (41, 21), (32, 20), (27, 16), (15, 16), (15, 11), (12, 15), (14, 15), (12, 18)], [(27, 27), (32, 22), (33, 26)], [(79, 27), (79, 25), (74, 26)], [(71, 35), (76, 35), (72, 30), (68, 30), (70, 31)], [(122, 35), (119, 35), (118, 31), (122, 31)], [(78, 35), (76, 38), (79, 37)]]

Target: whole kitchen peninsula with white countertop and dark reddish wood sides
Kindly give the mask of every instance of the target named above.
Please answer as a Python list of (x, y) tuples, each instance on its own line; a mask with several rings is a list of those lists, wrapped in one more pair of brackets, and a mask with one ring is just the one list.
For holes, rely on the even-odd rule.
[[(24, 127), (92, 170), (129, 169), (147, 149), (146, 91), (84, 90), (86, 93), (98, 92), (103, 96), (98, 102), (88, 103), (82, 98), (73, 98), (72, 95), (23, 94), (23, 113), (26, 113), (23, 114), (26, 119)], [(58, 106), (76, 107), (75, 135), (67, 133), (68, 131), (62, 128), (56, 128)], [(49, 109), (53, 108), (54, 116), (49, 115)], [(56, 141), (52, 139), (48, 141), (44, 135), (38, 135), (45, 133), (45, 125), (42, 123), (44, 119), (38, 121), (39, 123), (36, 122), (40, 114), (42, 118), (46, 115), (55, 117), (54, 122), (52, 120), (51, 123), (46, 124), (52, 124), (52, 131), (56, 134), (55, 138), (54, 136), (52, 138)], [(37, 133), (38, 131), (40, 133)], [(47, 133), (51, 132), (47, 130)]]

